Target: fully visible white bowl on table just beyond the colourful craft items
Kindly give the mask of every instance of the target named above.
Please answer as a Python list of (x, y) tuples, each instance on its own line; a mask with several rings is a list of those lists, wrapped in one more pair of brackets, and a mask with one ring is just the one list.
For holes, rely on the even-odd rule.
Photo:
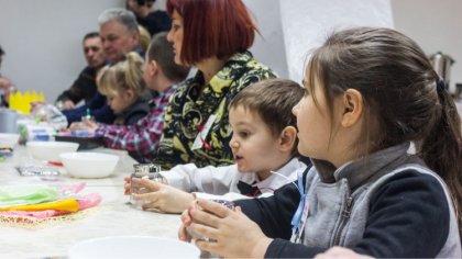
[(101, 153), (64, 153), (61, 160), (67, 173), (76, 178), (105, 178), (114, 170), (119, 157)]

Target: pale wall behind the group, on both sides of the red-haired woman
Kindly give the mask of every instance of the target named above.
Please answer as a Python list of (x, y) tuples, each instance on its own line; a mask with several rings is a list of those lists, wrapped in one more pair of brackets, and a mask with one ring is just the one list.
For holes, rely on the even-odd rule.
[[(287, 77), (278, 0), (245, 0), (257, 22), (251, 50), (280, 77)], [(85, 67), (81, 38), (98, 31), (98, 15), (125, 0), (0, 0), (0, 45), (7, 52), (1, 72), (21, 91), (37, 90), (47, 101), (67, 89)], [(156, 8), (165, 9), (165, 0)], [(271, 55), (268, 55), (271, 54)]]

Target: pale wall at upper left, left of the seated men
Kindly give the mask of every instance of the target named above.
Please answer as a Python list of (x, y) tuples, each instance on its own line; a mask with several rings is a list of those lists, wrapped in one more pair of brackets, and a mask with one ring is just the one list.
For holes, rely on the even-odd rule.
[(1, 72), (47, 101), (70, 87), (86, 66), (81, 40), (98, 31), (98, 15), (123, 0), (0, 0)]

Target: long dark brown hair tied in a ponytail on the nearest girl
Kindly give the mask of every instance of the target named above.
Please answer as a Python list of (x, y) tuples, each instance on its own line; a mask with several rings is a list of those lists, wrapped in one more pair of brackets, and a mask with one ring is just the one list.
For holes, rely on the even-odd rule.
[(367, 153), (415, 142), (417, 155), (448, 184), (461, 228), (461, 119), (422, 49), (391, 29), (350, 29), (329, 36), (306, 72), (311, 92), (316, 79), (330, 104), (346, 89), (363, 94), (358, 143), (366, 143)]

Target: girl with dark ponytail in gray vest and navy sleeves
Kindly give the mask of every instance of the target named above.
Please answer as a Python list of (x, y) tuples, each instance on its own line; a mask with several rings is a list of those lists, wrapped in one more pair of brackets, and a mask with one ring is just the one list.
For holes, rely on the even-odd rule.
[(298, 150), (314, 167), (233, 211), (198, 200), (179, 238), (189, 228), (223, 257), (461, 258), (461, 122), (421, 48), (391, 29), (340, 31), (304, 87)]

